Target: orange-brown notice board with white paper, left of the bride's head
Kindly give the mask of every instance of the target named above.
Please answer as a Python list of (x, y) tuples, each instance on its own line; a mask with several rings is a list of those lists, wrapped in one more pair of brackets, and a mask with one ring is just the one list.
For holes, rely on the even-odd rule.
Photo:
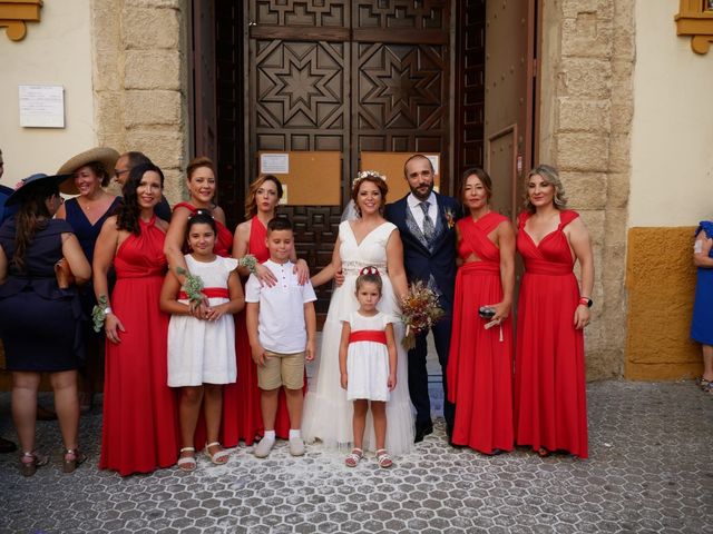
[(257, 154), (257, 170), (280, 179), (284, 190), (282, 205), (342, 204), (342, 152), (265, 150)]

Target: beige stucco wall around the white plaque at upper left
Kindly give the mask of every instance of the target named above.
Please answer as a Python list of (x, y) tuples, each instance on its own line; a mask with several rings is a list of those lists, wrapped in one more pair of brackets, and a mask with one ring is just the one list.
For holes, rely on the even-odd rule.
[[(46, 1), (39, 23), (11, 41), (0, 29), (0, 149), (2, 184), (32, 172), (55, 172), (96, 144), (91, 91), (90, 9), (86, 0)], [(65, 87), (65, 128), (20, 127), (18, 86)]]

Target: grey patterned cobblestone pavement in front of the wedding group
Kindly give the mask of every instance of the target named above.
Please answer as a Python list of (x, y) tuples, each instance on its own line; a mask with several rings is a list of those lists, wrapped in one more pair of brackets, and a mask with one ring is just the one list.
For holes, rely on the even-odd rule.
[[(0, 456), (0, 532), (686, 532), (713, 533), (713, 398), (692, 382), (590, 384), (590, 458), (527, 449), (486, 457), (446, 444), (442, 419), (391, 471), (356, 468), (311, 446), (281, 443), (266, 461), (235, 449), (227, 466), (202, 458), (120, 478), (97, 469), (101, 417), (81, 419), (89, 461), (59, 468), (56, 423), (39, 423), (52, 463), (31, 478)], [(0, 435), (13, 437), (8, 395)]]

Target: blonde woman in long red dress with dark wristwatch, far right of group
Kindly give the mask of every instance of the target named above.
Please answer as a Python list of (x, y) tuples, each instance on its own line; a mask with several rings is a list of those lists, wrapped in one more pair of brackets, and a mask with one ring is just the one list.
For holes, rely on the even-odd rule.
[[(594, 255), (579, 214), (566, 209), (557, 171), (533, 169), (517, 249), (525, 261), (515, 358), (515, 435), (540, 456), (588, 456), (584, 327), (589, 324)], [(582, 286), (573, 273), (579, 261)], [(582, 288), (580, 288), (582, 287)]]

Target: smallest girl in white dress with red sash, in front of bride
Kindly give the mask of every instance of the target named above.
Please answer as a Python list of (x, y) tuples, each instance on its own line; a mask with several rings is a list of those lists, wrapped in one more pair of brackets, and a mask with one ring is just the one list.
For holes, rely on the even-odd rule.
[(355, 293), (359, 309), (342, 320), (340, 383), (346, 389), (346, 398), (353, 400), (354, 406), (354, 448), (345, 459), (349, 467), (356, 467), (364, 455), (362, 443), (370, 402), (379, 466), (387, 468), (393, 465), (384, 444), (387, 402), (389, 393), (397, 387), (397, 344), (393, 335), (395, 319), (377, 309), (382, 288), (381, 276), (375, 267), (361, 269)]

